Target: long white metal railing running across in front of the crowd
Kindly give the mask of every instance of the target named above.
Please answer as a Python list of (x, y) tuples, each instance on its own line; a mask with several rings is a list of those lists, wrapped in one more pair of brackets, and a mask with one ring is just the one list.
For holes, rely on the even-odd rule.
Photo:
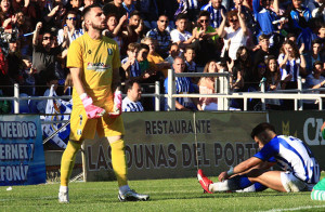
[[(265, 91), (265, 82), (261, 82), (261, 91), (257, 92), (231, 92), (230, 90), (230, 74), (224, 72), (182, 72), (176, 74), (171, 69), (168, 70), (168, 93), (160, 94), (160, 83), (154, 83), (154, 93), (143, 93), (142, 97), (155, 97), (155, 111), (160, 110), (160, 98), (167, 98), (168, 110), (176, 109), (177, 97), (217, 97), (218, 110), (229, 110), (230, 100), (242, 98), (244, 101), (244, 110), (247, 110), (249, 98), (260, 98), (262, 103), (262, 110), (265, 110), (265, 100), (294, 100), (295, 110), (302, 110), (302, 100), (314, 100), (318, 104), (318, 109), (323, 109), (322, 98), (325, 94), (306, 93), (314, 91), (325, 91), (325, 89), (302, 89), (301, 78), (298, 78), (298, 89), (294, 90), (278, 90), (268, 92)], [(216, 79), (216, 94), (176, 94), (176, 77), (219, 77)], [(217, 93), (218, 91), (218, 93)], [(125, 94), (123, 94), (125, 96)], [(13, 101), (14, 114), (20, 114), (20, 102), (26, 100), (70, 100), (70, 95), (63, 96), (20, 96), (20, 85), (14, 84), (14, 96), (1, 96), (0, 101)]]

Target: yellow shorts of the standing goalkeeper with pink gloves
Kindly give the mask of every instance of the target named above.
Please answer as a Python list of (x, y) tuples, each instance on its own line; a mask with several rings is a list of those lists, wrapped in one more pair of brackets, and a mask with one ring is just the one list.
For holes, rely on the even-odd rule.
[[(109, 105), (110, 106), (110, 105)], [(109, 107), (107, 105), (107, 107)], [(107, 107), (102, 107), (109, 111)], [(95, 132), (99, 137), (108, 137), (125, 134), (125, 125), (121, 116), (110, 118), (107, 112), (98, 119), (88, 119), (83, 106), (73, 108), (70, 118), (70, 140), (93, 140)]]

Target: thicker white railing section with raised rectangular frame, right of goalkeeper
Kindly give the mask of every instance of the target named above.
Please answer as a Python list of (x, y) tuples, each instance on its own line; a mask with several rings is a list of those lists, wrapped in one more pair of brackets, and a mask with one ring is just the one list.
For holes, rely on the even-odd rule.
[[(176, 94), (176, 77), (219, 77), (219, 94)], [(216, 83), (218, 84), (218, 83)], [(217, 97), (218, 98), (218, 110), (229, 110), (231, 98), (243, 98), (244, 110), (247, 110), (247, 103), (249, 98), (261, 98), (262, 110), (265, 110), (265, 100), (294, 100), (295, 110), (302, 110), (302, 100), (314, 100), (318, 104), (318, 109), (323, 109), (322, 98), (325, 98), (325, 94), (308, 93), (311, 91), (325, 91), (325, 89), (307, 89), (302, 90), (301, 78), (298, 80), (298, 89), (296, 90), (278, 90), (277, 92), (265, 92), (265, 82), (261, 83), (261, 91), (259, 92), (231, 92), (230, 91), (230, 72), (182, 72), (176, 74), (173, 70), (168, 70), (168, 94), (167, 103), (168, 110), (176, 109), (176, 102), (173, 98), (177, 97)], [(287, 93), (296, 92), (296, 93)], [(298, 107), (299, 103), (299, 107)]]

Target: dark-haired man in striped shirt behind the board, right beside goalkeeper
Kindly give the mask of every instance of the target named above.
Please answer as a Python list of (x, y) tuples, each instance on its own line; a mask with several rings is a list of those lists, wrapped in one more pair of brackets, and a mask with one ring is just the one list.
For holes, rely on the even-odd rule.
[(122, 101), (122, 111), (143, 111), (141, 100), (142, 89), (139, 81), (131, 79), (126, 82), (127, 96)]

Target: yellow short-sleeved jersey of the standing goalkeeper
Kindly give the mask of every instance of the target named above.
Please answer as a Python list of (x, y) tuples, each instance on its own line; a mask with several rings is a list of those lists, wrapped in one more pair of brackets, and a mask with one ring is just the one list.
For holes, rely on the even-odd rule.
[[(120, 67), (119, 50), (116, 41), (105, 36), (100, 40), (93, 40), (86, 32), (70, 43), (67, 54), (67, 67), (82, 69), (81, 82), (86, 93), (94, 102), (102, 102), (103, 98), (113, 102), (113, 69)], [(73, 100), (74, 105), (82, 104), (75, 89)]]

